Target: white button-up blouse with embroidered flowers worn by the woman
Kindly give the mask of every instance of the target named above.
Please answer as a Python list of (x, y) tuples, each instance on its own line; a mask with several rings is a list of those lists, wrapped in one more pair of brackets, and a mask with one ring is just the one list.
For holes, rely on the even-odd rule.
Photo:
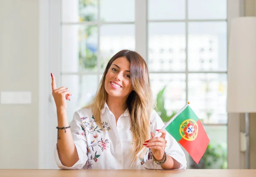
[[(62, 169), (145, 169), (155, 168), (147, 151), (144, 158), (138, 158), (137, 165), (130, 165), (133, 153), (130, 114), (128, 110), (119, 117), (117, 124), (113, 113), (105, 103), (101, 111), (102, 128), (96, 125), (91, 108), (74, 113), (70, 122), (73, 140), (79, 160), (72, 167), (61, 164), (55, 147), (55, 161)], [(162, 119), (152, 110), (150, 126), (153, 133), (164, 126)], [(186, 157), (177, 141), (166, 132), (166, 154), (180, 162), (179, 169), (186, 169)], [(161, 169), (160, 165), (157, 167)]]

